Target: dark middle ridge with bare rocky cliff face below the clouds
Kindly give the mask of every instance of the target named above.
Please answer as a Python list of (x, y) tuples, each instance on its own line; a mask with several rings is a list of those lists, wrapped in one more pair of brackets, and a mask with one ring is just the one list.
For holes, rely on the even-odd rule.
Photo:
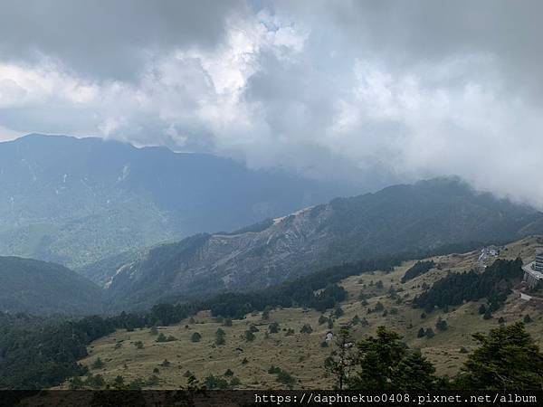
[(541, 232), (543, 213), (457, 179), (435, 179), (337, 198), (237, 233), (160, 245), (101, 275), (110, 277), (111, 301), (143, 306), (167, 296), (267, 287), (368, 256)]

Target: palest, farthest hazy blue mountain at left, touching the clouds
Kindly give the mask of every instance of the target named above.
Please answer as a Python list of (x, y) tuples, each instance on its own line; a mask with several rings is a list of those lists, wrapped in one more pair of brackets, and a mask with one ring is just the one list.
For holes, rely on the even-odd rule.
[(217, 156), (33, 134), (0, 143), (0, 254), (77, 269), (159, 241), (230, 231), (345, 191)]

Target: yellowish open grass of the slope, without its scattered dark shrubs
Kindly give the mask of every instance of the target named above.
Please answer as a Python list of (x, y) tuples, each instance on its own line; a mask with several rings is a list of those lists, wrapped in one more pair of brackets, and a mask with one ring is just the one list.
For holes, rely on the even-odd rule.
[[(535, 238), (527, 238), (522, 241), (511, 243), (507, 251), (502, 251), (500, 258), (514, 259), (520, 256), (523, 260), (529, 260), (540, 245)], [(334, 331), (338, 326), (347, 323), (352, 317), (366, 317), (368, 327), (357, 325), (353, 329), (353, 336), (359, 338), (371, 334), (379, 325), (386, 325), (405, 336), (408, 345), (420, 348), (424, 355), (436, 365), (438, 374), (456, 374), (464, 361), (466, 354), (460, 352), (465, 346), (472, 349), (475, 343), (472, 341), (472, 334), (478, 331), (488, 331), (491, 327), (497, 327), (498, 318), (504, 317), (508, 323), (518, 320), (529, 313), (534, 322), (528, 324), (530, 334), (536, 338), (539, 345), (543, 345), (543, 309), (538, 308), (534, 303), (522, 301), (513, 294), (508, 298), (504, 308), (494, 314), (490, 320), (483, 320), (477, 309), (481, 302), (464, 304), (461, 307), (451, 309), (449, 313), (434, 311), (430, 316), (421, 318), (421, 309), (411, 307), (410, 298), (413, 298), (421, 291), (421, 285), (443, 276), (446, 270), (462, 271), (468, 270), (476, 264), (479, 252), (471, 252), (460, 255), (438, 256), (433, 258), (436, 264), (441, 265), (442, 270), (431, 270), (427, 274), (400, 283), (400, 279), (414, 262), (406, 262), (402, 267), (396, 268), (394, 272), (384, 273), (376, 271), (372, 274), (351, 277), (342, 281), (342, 285), (348, 290), (349, 296), (342, 304), (345, 315), (336, 322)], [(370, 288), (370, 281), (382, 280), (384, 289), (377, 290)], [(387, 296), (387, 290), (393, 285), (395, 289), (403, 287), (405, 292), (400, 296), (409, 293), (401, 305)], [(366, 307), (358, 301), (358, 294), (364, 291), (369, 296)], [(367, 314), (367, 308), (375, 307), (377, 301), (381, 301), (389, 311), (386, 317), (382, 313)], [(392, 315), (390, 309), (397, 308), (397, 314)], [(446, 332), (439, 332), (435, 328), (438, 317), (447, 320), (449, 329)], [(82, 364), (90, 364), (100, 356), (105, 362), (103, 369), (91, 370), (94, 374), (102, 374), (106, 381), (112, 381), (118, 374), (125, 378), (128, 383), (137, 377), (148, 378), (153, 374), (153, 369), (158, 368), (161, 379), (160, 388), (177, 388), (186, 383), (183, 375), (186, 370), (194, 372), (198, 378), (204, 378), (208, 374), (222, 375), (228, 368), (232, 369), (234, 375), (241, 379), (240, 388), (281, 388), (284, 387), (275, 381), (275, 375), (268, 374), (267, 370), (271, 364), (278, 365), (297, 379), (296, 388), (327, 388), (332, 384), (330, 377), (327, 377), (322, 368), (325, 357), (329, 355), (330, 348), (323, 348), (320, 343), (323, 341), (327, 325), (318, 324), (319, 313), (314, 310), (303, 310), (300, 308), (285, 308), (271, 311), (269, 321), (262, 321), (260, 315), (247, 316), (244, 320), (233, 321), (233, 327), (223, 327), (215, 322), (208, 313), (200, 313), (195, 317), (195, 324), (188, 324), (183, 321), (175, 327), (160, 327), (159, 332), (166, 336), (173, 335), (178, 338), (176, 342), (158, 344), (156, 336), (152, 336), (148, 329), (135, 332), (118, 331), (111, 336), (101, 338), (90, 345), (90, 356), (82, 360)], [(269, 338), (264, 337), (266, 326), (276, 321), (280, 324), (281, 331), (272, 334)], [(188, 327), (186, 325), (188, 324)], [(256, 333), (256, 339), (252, 343), (243, 340), (243, 332), (250, 324), (257, 325), (261, 331)], [(312, 334), (300, 334), (300, 327), (310, 324), (314, 331)], [(410, 327), (410, 324), (413, 327)], [(226, 345), (215, 347), (214, 332), (222, 327), (226, 332)], [(432, 327), (435, 336), (431, 339), (417, 338), (420, 327)], [(285, 336), (284, 330), (292, 328), (296, 332), (293, 336)], [(199, 343), (192, 343), (190, 336), (199, 332), (203, 338)], [(135, 341), (142, 341), (145, 344), (143, 349), (137, 349), (132, 345)], [(115, 344), (123, 341), (119, 349)], [(243, 348), (243, 353), (236, 352), (236, 347)], [(242, 364), (246, 357), (248, 364)], [(171, 365), (168, 367), (159, 366), (167, 359)]]

